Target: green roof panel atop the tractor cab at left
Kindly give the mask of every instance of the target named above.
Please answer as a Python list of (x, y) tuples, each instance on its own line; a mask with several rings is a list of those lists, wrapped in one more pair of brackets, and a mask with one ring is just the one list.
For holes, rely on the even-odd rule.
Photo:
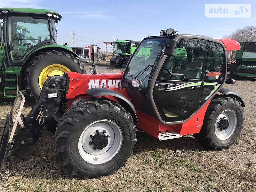
[(47, 10), (47, 9), (31, 9), (31, 8), (10, 8), (10, 7), (2, 7), (0, 8), (0, 14), (4, 14), (2, 11), (6, 10), (11, 13), (29, 13), (29, 14), (47, 14), (47, 13), (52, 13), (52, 14), (58, 14), (56, 11), (52, 10)]

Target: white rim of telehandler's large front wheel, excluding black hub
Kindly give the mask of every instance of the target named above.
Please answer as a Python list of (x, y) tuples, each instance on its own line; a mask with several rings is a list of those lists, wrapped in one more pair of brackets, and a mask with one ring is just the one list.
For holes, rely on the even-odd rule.
[[(93, 149), (93, 144), (90, 135), (95, 135), (96, 130), (103, 132), (106, 136), (109, 135), (108, 145), (103, 149)], [(88, 125), (80, 135), (78, 142), (78, 150), (81, 157), (91, 164), (103, 164), (110, 161), (121, 148), (123, 142), (123, 134), (120, 127), (111, 120), (99, 120)]]

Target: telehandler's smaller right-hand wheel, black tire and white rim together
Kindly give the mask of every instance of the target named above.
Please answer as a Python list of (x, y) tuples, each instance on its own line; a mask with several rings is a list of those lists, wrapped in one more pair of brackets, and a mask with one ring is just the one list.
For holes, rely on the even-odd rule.
[(233, 97), (217, 97), (206, 110), (199, 133), (194, 134), (199, 143), (213, 150), (228, 149), (236, 143), (244, 123), (244, 108)]

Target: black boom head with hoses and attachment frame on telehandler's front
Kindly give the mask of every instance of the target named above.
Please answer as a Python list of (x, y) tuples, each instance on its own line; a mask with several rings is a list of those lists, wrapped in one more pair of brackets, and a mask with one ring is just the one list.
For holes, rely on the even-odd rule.
[(44, 83), (39, 99), (26, 118), (21, 113), (25, 97), (19, 92), (10, 114), (6, 117), (1, 137), (1, 171), (5, 170), (8, 156), (19, 156), (22, 148), (31, 146), (39, 140), (40, 130), (61, 108), (61, 101), (65, 99), (65, 86), (66, 77), (49, 77)]

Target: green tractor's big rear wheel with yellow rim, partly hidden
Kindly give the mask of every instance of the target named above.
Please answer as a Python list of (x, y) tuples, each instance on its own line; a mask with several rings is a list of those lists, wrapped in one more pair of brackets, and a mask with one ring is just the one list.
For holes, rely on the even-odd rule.
[(62, 76), (68, 71), (86, 73), (84, 66), (73, 55), (50, 50), (35, 56), (27, 65), (24, 84), (28, 95), (37, 100), (44, 82), (49, 76)]

